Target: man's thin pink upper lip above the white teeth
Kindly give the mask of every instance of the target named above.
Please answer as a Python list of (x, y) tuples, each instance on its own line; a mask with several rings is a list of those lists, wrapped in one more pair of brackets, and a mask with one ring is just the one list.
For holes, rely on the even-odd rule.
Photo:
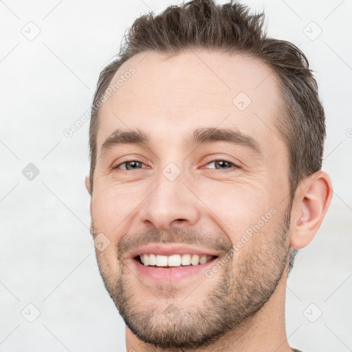
[(162, 256), (171, 256), (173, 254), (198, 254), (208, 256), (219, 256), (219, 252), (206, 248), (192, 247), (190, 245), (182, 245), (177, 243), (168, 244), (150, 244), (137, 248), (129, 253), (129, 258), (135, 258), (142, 254), (159, 254)]

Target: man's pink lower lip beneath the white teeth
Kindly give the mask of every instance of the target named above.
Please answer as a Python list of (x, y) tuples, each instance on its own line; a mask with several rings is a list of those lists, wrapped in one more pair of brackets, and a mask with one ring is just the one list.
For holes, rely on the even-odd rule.
[(212, 259), (204, 264), (199, 265), (186, 265), (180, 267), (155, 267), (143, 265), (136, 259), (132, 259), (133, 265), (135, 266), (138, 274), (142, 276), (142, 278), (146, 278), (150, 281), (154, 281), (157, 283), (160, 282), (178, 282), (184, 281), (187, 278), (193, 278), (196, 275), (203, 275), (206, 278), (205, 270), (208, 267), (214, 265), (217, 262), (218, 258)]

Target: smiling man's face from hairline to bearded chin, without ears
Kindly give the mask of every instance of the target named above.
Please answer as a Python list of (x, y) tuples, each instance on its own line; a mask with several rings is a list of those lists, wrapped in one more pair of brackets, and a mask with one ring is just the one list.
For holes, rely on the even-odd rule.
[(197, 347), (254, 316), (287, 266), (278, 81), (254, 58), (151, 52), (111, 85), (130, 67), (100, 109), (92, 232), (110, 244), (98, 265), (138, 338)]

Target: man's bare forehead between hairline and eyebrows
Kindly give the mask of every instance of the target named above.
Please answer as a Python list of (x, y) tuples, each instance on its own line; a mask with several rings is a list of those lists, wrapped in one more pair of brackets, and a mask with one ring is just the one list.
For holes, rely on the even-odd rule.
[(257, 58), (205, 50), (170, 57), (144, 52), (118, 69), (114, 84), (100, 108), (98, 153), (118, 128), (143, 129), (172, 142), (193, 128), (221, 124), (282, 144), (275, 126), (282, 118), (278, 80)]

